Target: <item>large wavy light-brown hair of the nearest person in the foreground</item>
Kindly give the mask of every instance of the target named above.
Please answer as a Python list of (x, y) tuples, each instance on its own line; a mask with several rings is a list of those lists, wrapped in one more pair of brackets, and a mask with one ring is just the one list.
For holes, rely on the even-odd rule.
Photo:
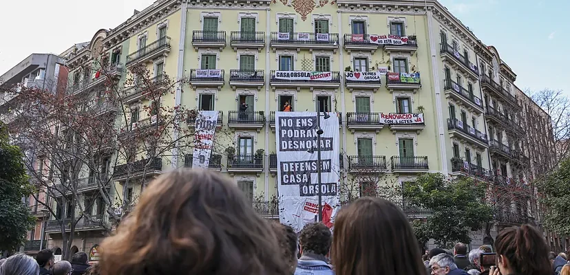
[(101, 244), (103, 275), (285, 275), (270, 225), (220, 173), (176, 170), (151, 182)]

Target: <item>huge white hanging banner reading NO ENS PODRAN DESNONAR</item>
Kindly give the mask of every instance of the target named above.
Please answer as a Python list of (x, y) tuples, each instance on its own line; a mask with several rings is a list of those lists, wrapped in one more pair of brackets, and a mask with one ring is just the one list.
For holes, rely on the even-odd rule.
[[(318, 217), (321, 192), (323, 223), (332, 228), (339, 209), (339, 118), (336, 113), (321, 114), (321, 143), (317, 144), (317, 113), (275, 113), (277, 133), (277, 190), (279, 221), (295, 232)], [(315, 148), (314, 153), (308, 149)], [(318, 188), (317, 150), (321, 148), (321, 190)]]

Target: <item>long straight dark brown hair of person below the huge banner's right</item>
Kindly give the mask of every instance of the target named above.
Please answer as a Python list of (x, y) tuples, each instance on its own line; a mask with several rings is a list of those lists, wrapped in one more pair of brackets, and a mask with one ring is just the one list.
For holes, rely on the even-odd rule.
[(361, 197), (340, 210), (330, 254), (337, 275), (425, 274), (418, 247), (394, 203)]

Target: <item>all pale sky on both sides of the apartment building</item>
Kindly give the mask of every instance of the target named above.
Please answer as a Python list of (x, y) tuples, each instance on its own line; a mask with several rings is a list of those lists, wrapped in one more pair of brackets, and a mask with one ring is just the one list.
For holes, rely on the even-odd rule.
[[(520, 89), (562, 89), (570, 96), (570, 0), (439, 0), (517, 74)], [(4, 1), (0, 75), (32, 53), (61, 54), (115, 28), (154, 0)]]

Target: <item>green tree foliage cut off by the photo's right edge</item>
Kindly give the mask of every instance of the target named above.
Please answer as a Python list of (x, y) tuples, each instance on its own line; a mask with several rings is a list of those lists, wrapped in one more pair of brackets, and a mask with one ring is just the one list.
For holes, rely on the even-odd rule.
[(545, 208), (545, 227), (558, 234), (570, 234), (570, 159), (564, 159), (560, 166), (545, 179), (537, 182), (540, 197), (538, 201)]

